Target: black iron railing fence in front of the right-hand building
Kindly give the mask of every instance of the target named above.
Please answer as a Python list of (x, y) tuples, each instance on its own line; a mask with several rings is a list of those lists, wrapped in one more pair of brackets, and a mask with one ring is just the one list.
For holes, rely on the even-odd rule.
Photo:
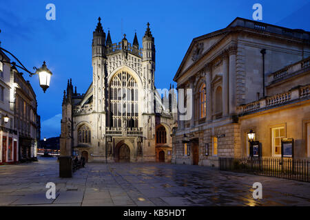
[(310, 162), (291, 158), (219, 157), (219, 169), (310, 182)]

